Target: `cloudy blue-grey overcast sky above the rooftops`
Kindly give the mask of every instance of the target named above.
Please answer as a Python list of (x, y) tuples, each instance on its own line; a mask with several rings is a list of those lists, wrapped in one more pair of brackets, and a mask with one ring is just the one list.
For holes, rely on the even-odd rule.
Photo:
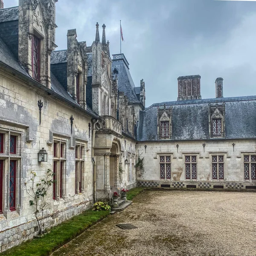
[[(4, 0), (5, 7), (18, 0)], [(202, 98), (256, 95), (256, 2), (215, 0), (59, 0), (57, 49), (67, 48), (67, 29), (91, 45), (95, 24), (106, 24), (111, 54), (122, 52), (135, 86), (144, 79), (146, 106), (177, 100), (177, 77), (201, 75)]]

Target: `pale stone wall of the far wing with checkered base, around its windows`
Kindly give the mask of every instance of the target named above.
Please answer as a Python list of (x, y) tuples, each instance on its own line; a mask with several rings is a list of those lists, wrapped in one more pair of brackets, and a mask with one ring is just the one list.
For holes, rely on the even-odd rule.
[[(233, 147), (233, 143), (235, 144)], [(205, 145), (204, 145), (205, 144)], [(145, 152), (145, 145), (146, 152)], [(244, 179), (244, 155), (256, 155), (255, 140), (158, 141), (137, 145), (144, 157), (144, 172), (138, 173), (138, 186), (181, 188), (247, 189), (256, 180)], [(186, 179), (186, 156), (196, 156), (196, 179)], [(224, 179), (213, 179), (212, 156), (224, 157)], [(171, 178), (160, 178), (160, 157), (170, 156)], [(192, 171), (192, 170), (191, 170)], [(193, 185), (193, 186), (191, 186)]]

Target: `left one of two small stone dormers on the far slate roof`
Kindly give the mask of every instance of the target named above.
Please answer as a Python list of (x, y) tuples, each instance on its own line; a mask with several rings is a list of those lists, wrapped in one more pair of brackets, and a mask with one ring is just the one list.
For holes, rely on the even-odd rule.
[(157, 107), (157, 140), (172, 140), (172, 106)]

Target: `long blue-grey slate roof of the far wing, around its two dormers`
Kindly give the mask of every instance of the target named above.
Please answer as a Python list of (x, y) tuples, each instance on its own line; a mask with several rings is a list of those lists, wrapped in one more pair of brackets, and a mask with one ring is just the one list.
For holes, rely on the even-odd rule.
[(165, 105), (172, 106), (172, 140), (208, 140), (208, 105), (222, 102), (225, 102), (226, 138), (256, 138), (256, 96), (242, 96), (153, 104), (140, 111), (137, 139), (157, 140), (157, 107)]

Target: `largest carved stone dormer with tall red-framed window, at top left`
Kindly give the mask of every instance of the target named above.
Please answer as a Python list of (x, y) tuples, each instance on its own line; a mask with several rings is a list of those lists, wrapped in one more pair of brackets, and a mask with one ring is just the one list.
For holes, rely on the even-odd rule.
[(20, 0), (19, 61), (30, 76), (51, 87), (50, 55), (55, 44), (55, 3), (58, 0)]

